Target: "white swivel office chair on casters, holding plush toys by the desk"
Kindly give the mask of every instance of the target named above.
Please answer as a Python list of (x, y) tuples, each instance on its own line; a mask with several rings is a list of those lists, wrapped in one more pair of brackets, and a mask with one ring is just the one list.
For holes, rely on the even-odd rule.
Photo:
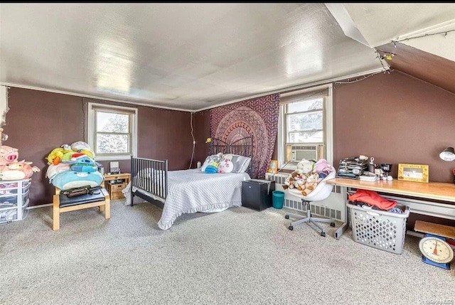
[(296, 220), (296, 221), (292, 222), (291, 225), (289, 225), (289, 227), (288, 227), (289, 230), (294, 230), (294, 225), (299, 225), (299, 223), (312, 223), (317, 228), (319, 228), (319, 230), (321, 230), (321, 236), (324, 237), (324, 236), (326, 236), (326, 231), (320, 225), (315, 223), (316, 221), (319, 221), (321, 223), (330, 223), (331, 227), (335, 227), (335, 223), (331, 219), (315, 218), (315, 217), (311, 216), (311, 202), (324, 200), (324, 199), (328, 198), (328, 196), (330, 196), (333, 186), (331, 184), (326, 183), (326, 181), (328, 181), (332, 178), (335, 178), (335, 176), (336, 176), (336, 170), (332, 166), (332, 172), (329, 173), (328, 176), (326, 176), (326, 178), (323, 178), (318, 183), (316, 188), (313, 191), (311, 191), (311, 193), (308, 194), (308, 196), (303, 196), (303, 195), (301, 195), (300, 191), (288, 188), (288, 191), (291, 195), (301, 198), (301, 204), (306, 205), (306, 217), (305, 218), (302, 218), (303, 217), (302, 215), (286, 213), (286, 215), (284, 216), (284, 218), (286, 218), (286, 219), (289, 219), (289, 216), (292, 216), (294, 218), (302, 218), (300, 220)]

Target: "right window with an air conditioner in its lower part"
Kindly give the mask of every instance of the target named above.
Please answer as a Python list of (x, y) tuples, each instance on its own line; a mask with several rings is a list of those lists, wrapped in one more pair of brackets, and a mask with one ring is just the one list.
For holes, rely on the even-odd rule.
[(280, 95), (278, 159), (294, 169), (301, 159), (332, 164), (331, 85)]

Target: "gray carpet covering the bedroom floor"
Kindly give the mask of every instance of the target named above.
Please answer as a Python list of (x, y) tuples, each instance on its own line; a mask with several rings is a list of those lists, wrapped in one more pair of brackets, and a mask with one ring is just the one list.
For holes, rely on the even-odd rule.
[[(455, 304), (451, 271), (424, 264), (419, 238), (402, 255), (287, 229), (286, 210), (230, 208), (183, 215), (112, 201), (61, 215), (52, 208), (0, 225), (0, 304)], [(439, 301), (439, 303), (435, 303)]]

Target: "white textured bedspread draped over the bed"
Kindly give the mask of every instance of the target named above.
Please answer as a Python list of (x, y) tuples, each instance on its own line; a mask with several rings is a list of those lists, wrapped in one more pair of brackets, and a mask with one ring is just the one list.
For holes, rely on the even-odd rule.
[[(171, 228), (176, 218), (184, 213), (219, 212), (242, 205), (242, 181), (248, 179), (248, 173), (205, 173), (200, 168), (168, 171), (168, 196), (159, 228)], [(131, 186), (125, 191), (129, 188)], [(127, 196), (127, 204), (129, 202)]]

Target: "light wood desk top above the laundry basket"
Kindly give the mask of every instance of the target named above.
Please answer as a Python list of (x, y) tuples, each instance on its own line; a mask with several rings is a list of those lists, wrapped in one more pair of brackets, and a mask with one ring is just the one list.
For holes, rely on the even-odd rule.
[(334, 186), (346, 186), (348, 188), (362, 188), (364, 190), (393, 193), (397, 195), (445, 200), (455, 203), (455, 184), (444, 182), (411, 182), (411, 181), (360, 181), (348, 178), (333, 178), (327, 183)]

